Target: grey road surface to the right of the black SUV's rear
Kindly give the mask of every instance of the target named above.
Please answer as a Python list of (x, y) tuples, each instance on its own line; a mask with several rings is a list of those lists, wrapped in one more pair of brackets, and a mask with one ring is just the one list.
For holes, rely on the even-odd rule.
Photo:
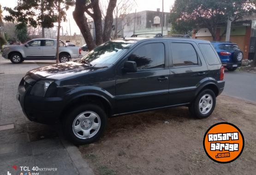
[(256, 102), (256, 73), (225, 71), (223, 95)]

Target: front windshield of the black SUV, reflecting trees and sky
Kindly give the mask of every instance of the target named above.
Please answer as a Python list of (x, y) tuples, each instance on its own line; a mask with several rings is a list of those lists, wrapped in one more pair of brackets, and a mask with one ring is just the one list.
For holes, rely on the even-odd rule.
[(89, 63), (92, 66), (96, 64), (114, 64), (119, 56), (136, 42), (134, 40), (108, 41), (83, 56), (80, 62)]

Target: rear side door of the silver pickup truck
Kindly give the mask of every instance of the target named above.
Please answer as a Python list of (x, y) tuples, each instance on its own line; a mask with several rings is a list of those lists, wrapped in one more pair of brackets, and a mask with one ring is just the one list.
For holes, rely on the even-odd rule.
[(43, 57), (55, 59), (57, 48), (54, 45), (54, 40), (43, 40)]

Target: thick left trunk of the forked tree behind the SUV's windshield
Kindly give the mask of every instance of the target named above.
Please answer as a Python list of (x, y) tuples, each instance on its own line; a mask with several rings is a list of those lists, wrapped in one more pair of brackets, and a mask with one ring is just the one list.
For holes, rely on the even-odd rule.
[(87, 17), (84, 15), (85, 0), (76, 0), (75, 10), (73, 11), (74, 20), (79, 27), (81, 34), (88, 46), (88, 49), (93, 50), (96, 45), (90, 33), (90, 29), (87, 23)]

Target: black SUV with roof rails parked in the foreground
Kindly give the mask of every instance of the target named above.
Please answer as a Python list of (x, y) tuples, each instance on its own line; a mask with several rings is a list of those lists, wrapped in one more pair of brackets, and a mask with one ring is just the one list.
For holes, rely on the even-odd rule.
[(112, 40), (77, 62), (25, 74), (17, 98), (42, 124), (62, 122), (75, 144), (96, 141), (108, 117), (187, 106), (207, 118), (224, 89), (224, 68), (209, 41), (173, 37)]

